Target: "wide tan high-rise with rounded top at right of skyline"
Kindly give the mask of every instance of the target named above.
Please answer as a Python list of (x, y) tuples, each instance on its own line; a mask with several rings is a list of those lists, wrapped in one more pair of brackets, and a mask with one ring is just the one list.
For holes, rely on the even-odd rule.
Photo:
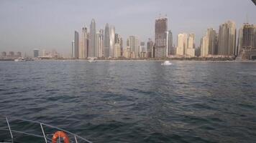
[(236, 46), (236, 24), (227, 21), (219, 26), (218, 54), (234, 56)]

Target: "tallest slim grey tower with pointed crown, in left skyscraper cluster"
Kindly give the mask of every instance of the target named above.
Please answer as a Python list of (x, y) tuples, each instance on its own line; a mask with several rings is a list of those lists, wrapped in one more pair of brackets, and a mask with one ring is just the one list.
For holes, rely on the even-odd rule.
[(91, 24), (90, 24), (88, 56), (89, 57), (96, 56), (96, 23), (94, 19), (91, 20)]

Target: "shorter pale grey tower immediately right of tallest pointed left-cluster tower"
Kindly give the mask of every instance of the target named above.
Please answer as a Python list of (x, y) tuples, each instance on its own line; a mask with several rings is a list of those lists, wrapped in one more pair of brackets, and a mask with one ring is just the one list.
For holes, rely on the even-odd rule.
[(100, 29), (98, 33), (96, 33), (96, 57), (104, 56), (104, 31)]

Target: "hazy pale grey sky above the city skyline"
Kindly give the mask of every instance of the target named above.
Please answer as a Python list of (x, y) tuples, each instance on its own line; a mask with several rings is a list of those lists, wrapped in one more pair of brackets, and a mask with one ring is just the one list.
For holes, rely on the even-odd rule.
[(168, 29), (176, 44), (181, 32), (196, 34), (196, 46), (206, 29), (232, 20), (237, 29), (248, 17), (256, 24), (256, 6), (251, 0), (0, 0), (0, 51), (55, 49), (68, 55), (74, 31), (96, 20), (96, 29), (106, 23), (116, 27), (124, 41), (129, 35), (142, 41), (154, 38), (155, 18), (168, 16)]

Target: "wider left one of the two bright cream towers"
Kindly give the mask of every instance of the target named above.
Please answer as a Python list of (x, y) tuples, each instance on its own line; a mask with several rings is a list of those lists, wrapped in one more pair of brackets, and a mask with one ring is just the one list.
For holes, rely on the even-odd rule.
[(186, 54), (186, 49), (188, 47), (188, 34), (178, 34), (177, 40), (177, 48), (176, 48), (176, 55), (184, 56)]

